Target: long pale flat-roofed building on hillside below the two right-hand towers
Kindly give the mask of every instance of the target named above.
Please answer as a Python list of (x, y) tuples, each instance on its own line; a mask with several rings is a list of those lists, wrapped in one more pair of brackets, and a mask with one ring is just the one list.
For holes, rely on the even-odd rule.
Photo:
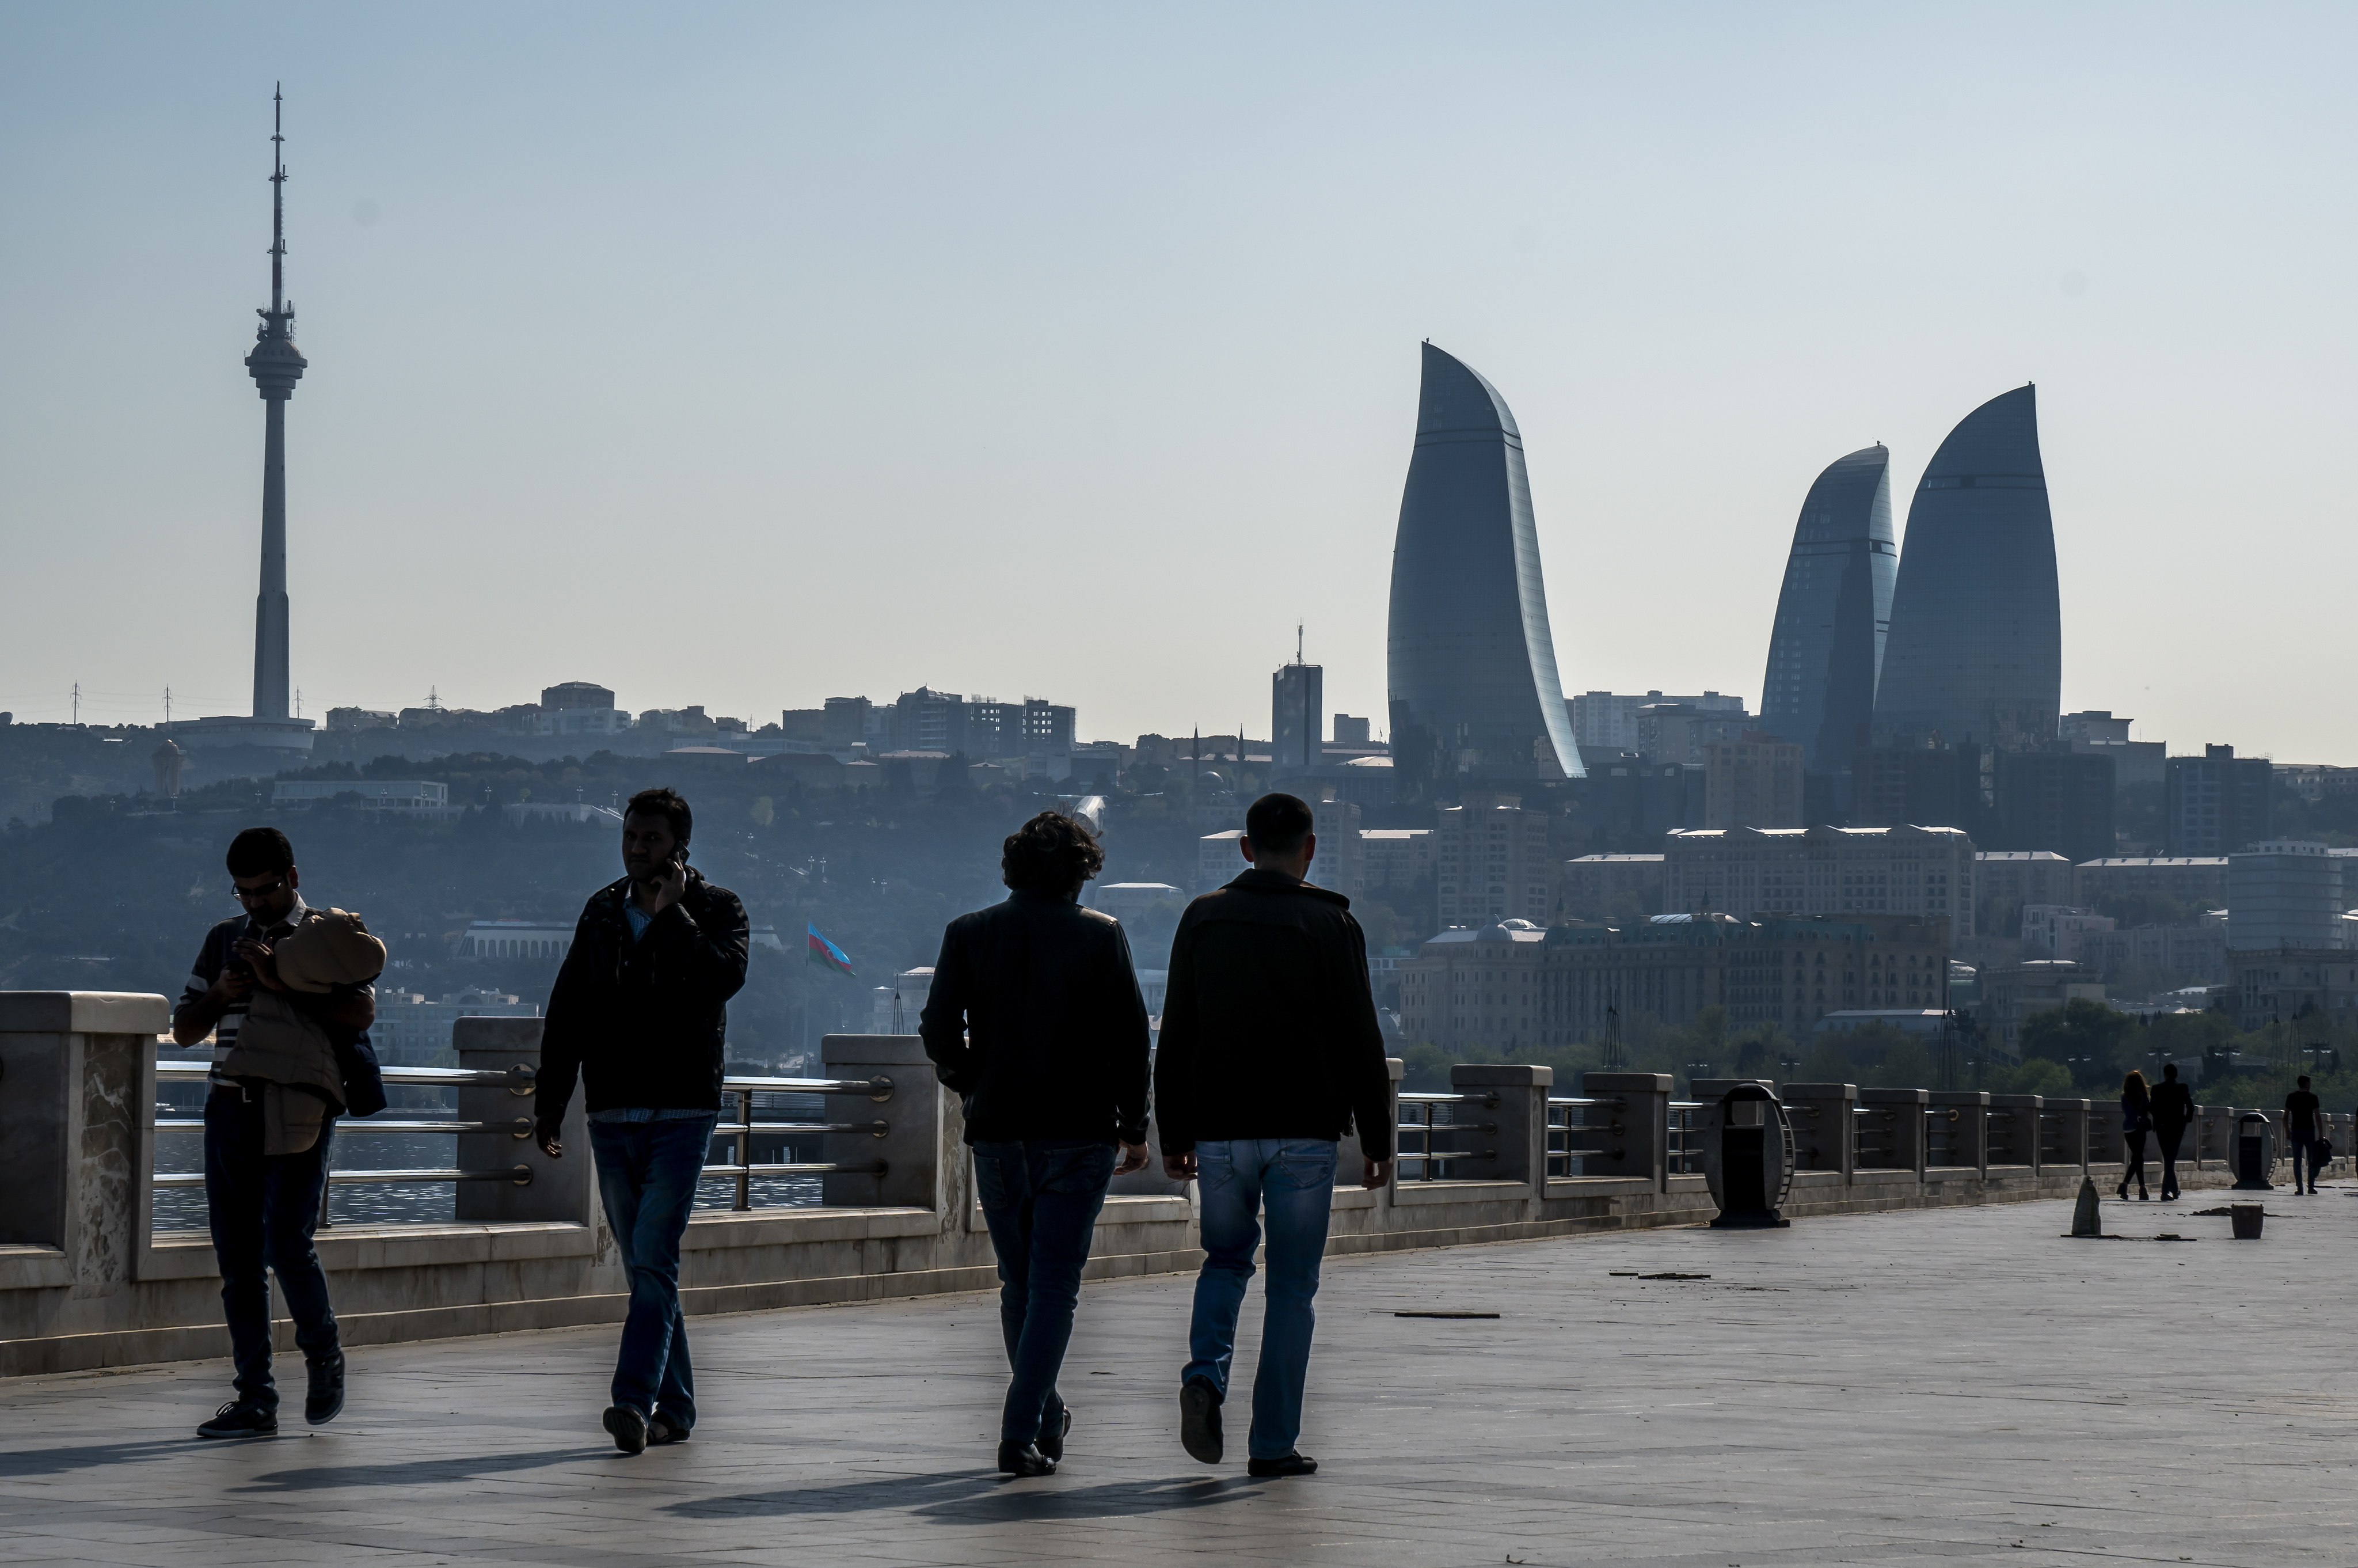
[(1724, 915), (1938, 915), (1974, 934), (1962, 828), (1686, 828), (1662, 837), (1662, 908)]

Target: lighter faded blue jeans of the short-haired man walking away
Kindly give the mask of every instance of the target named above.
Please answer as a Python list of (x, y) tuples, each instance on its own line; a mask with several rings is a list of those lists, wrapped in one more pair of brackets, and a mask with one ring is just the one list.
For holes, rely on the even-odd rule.
[(1203, 1273), (1196, 1276), (1196, 1323), (1186, 1370), (1210, 1377), (1229, 1398), (1236, 1356), (1236, 1313), (1252, 1283), (1252, 1250), (1262, 1243), (1259, 1212), (1269, 1212), (1269, 1283), (1262, 1309), (1262, 1363), (1252, 1372), (1254, 1460), (1295, 1452), (1302, 1436), (1302, 1384), (1311, 1370), (1311, 1330), (1318, 1311), (1318, 1261), (1325, 1257), (1328, 1214), (1335, 1210), (1332, 1139), (1217, 1139), (1196, 1146), (1196, 1188), (1203, 1200)]

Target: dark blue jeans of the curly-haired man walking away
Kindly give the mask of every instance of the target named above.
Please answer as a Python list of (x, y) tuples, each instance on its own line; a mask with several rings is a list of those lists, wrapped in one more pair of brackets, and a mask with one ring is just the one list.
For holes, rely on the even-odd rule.
[(1080, 1271), (1113, 1181), (1113, 1144), (976, 1144), (974, 1191), (1000, 1259), (1000, 1335), (1007, 1339), (1002, 1443), (1038, 1443), (1063, 1427), (1056, 1372), (1073, 1342)]

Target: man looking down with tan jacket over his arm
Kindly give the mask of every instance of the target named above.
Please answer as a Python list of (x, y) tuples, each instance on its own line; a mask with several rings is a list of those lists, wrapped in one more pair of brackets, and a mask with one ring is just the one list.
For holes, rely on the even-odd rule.
[[(248, 828), (233, 837), (229, 889), (245, 913), (205, 934), (172, 1009), (177, 1045), (212, 1035), (205, 1217), (222, 1269), (236, 1398), (196, 1429), (203, 1438), (278, 1436), (269, 1273), (278, 1276), (309, 1375), (304, 1419), (318, 1427), (344, 1408), (344, 1351), (311, 1231), (328, 1186), (335, 1118), (384, 1108), (368, 1049), (377, 1016), (370, 981), (384, 948), (351, 915), (330, 922), (307, 905), (299, 887), (288, 835)], [(292, 960), (304, 948), (318, 962), (297, 969)]]

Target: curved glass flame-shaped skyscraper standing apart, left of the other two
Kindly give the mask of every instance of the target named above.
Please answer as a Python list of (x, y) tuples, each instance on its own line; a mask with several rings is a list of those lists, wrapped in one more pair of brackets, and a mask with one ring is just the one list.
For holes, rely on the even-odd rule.
[(1391, 547), (1391, 747), (1424, 778), (1580, 778), (1507, 398), (1424, 344)]

